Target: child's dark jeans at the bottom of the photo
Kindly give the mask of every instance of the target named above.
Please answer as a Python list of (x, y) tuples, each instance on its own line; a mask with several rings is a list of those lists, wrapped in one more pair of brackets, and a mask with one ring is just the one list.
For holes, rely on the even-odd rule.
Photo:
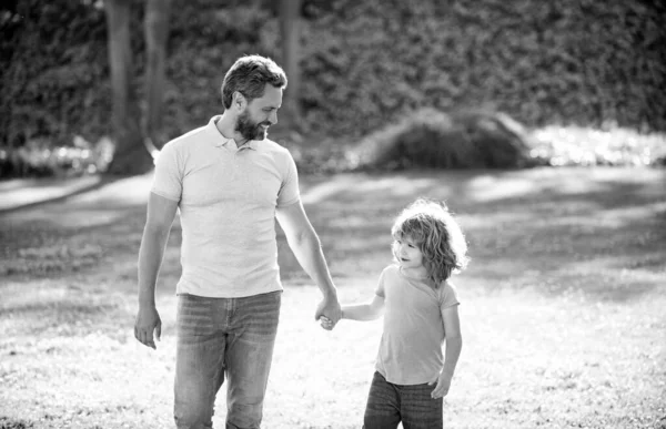
[(364, 429), (437, 429), (443, 427), (443, 398), (433, 399), (435, 385), (402, 386), (375, 372), (363, 418)]

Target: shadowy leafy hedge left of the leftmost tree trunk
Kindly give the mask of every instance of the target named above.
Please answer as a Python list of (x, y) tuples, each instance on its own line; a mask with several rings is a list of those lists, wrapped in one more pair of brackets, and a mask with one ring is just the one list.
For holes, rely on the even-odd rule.
[(0, 145), (109, 132), (103, 10), (81, 1), (19, 0), (0, 9)]

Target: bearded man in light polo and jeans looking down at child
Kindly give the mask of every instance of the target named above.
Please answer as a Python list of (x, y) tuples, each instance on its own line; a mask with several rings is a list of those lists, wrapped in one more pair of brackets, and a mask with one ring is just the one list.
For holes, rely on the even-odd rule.
[(294, 160), (266, 139), (285, 88), (286, 75), (272, 60), (240, 58), (222, 83), (224, 112), (167, 143), (155, 164), (139, 251), (134, 336), (152, 348), (160, 338), (155, 283), (180, 210), (178, 428), (212, 428), (225, 379), (226, 428), (260, 427), (282, 295), (275, 218), (323, 294), (315, 319), (341, 317), (320, 239), (301, 203)]

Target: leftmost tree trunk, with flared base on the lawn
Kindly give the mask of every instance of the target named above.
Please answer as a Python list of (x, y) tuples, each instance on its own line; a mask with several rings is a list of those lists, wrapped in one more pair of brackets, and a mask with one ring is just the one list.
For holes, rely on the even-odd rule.
[(111, 69), (111, 123), (115, 143), (108, 173), (132, 175), (152, 167), (152, 159), (143, 146), (140, 112), (132, 89), (132, 51), (130, 44), (131, 0), (105, 0)]

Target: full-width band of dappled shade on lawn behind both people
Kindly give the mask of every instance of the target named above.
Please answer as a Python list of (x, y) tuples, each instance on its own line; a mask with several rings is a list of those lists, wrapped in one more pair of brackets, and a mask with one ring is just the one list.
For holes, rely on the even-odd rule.
[[(0, 266), (24, 264), (6, 273), (27, 283), (79, 272), (133, 290), (149, 178), (3, 216)], [(339, 286), (375, 277), (391, 263), (393, 218), (426, 196), (446, 201), (457, 215), (472, 256), (463, 275), (476, 287), (574, 288), (593, 299), (626, 300), (653, 290), (666, 272), (665, 184), (659, 170), (533, 168), (343, 174), (303, 177), (301, 187)], [(311, 285), (280, 229), (278, 238), (284, 283)], [(174, 290), (180, 243), (176, 219), (160, 294)], [(85, 245), (88, 254), (78, 254)], [(56, 268), (41, 269), (50, 266), (44, 261)], [(85, 264), (77, 267), (78, 261)]]

